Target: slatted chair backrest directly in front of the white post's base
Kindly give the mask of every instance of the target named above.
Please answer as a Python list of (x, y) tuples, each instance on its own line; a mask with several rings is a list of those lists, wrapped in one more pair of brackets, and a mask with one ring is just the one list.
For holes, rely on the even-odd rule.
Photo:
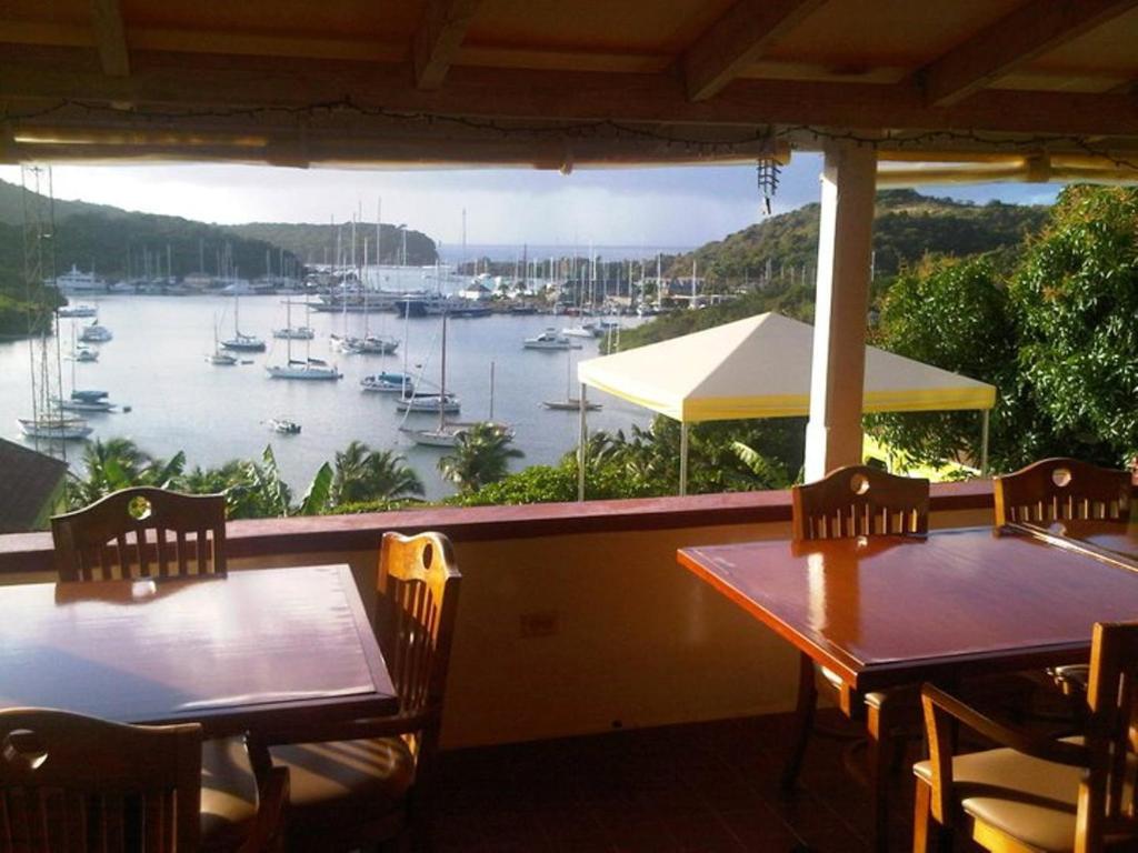
[(866, 465), (835, 469), (795, 486), (791, 499), (795, 541), (929, 530), (929, 481)]

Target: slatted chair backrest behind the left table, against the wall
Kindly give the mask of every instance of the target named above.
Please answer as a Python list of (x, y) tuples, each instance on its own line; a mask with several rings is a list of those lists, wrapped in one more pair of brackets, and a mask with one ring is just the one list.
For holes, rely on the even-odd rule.
[(225, 573), (225, 498), (137, 487), (51, 519), (60, 580)]

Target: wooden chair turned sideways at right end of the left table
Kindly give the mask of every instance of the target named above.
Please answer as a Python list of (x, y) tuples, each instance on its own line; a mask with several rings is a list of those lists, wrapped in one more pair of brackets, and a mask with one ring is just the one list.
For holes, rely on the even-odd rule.
[(410, 835), (430, 846), (430, 782), (461, 575), (440, 533), (384, 536), (376, 633), (399, 697), (390, 718), (266, 736), (288, 768), (289, 846), (348, 850)]

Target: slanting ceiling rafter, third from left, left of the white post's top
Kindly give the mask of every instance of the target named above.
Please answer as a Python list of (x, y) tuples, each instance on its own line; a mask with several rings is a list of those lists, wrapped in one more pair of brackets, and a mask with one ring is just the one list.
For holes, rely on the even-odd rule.
[(739, 0), (679, 60), (687, 97), (718, 94), (826, 0)]

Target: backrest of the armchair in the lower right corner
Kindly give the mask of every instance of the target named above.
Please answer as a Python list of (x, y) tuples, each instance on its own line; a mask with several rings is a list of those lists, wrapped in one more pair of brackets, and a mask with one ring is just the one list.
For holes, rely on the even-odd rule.
[(1106, 837), (1128, 835), (1132, 839), (1138, 833), (1133, 815), (1136, 686), (1138, 622), (1096, 624), (1087, 688), (1090, 769), (1079, 792), (1077, 851), (1097, 852), (1104, 848)]

